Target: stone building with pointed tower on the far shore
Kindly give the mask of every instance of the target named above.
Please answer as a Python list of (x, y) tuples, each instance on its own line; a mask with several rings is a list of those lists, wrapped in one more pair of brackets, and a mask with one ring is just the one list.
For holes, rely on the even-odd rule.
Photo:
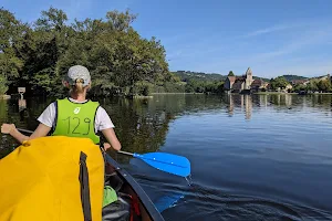
[(248, 67), (246, 74), (242, 76), (228, 76), (224, 84), (226, 91), (235, 93), (258, 92), (266, 86), (267, 84), (262, 80), (253, 80), (250, 67)]

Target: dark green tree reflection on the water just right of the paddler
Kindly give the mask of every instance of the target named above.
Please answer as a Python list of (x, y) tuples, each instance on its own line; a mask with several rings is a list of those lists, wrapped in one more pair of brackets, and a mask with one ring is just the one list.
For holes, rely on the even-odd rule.
[(170, 113), (149, 108), (149, 99), (114, 98), (101, 102), (111, 115), (124, 150), (147, 152), (164, 145)]

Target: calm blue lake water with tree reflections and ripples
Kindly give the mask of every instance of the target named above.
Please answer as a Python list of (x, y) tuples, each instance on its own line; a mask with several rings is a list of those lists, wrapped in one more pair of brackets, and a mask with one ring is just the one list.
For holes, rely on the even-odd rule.
[[(52, 99), (0, 101), (0, 124), (34, 129)], [(332, 96), (154, 95), (101, 99), (127, 151), (191, 162), (191, 186), (115, 156), (165, 220), (332, 220)], [(0, 157), (17, 143), (0, 140)], [(169, 203), (174, 202), (172, 207)]]

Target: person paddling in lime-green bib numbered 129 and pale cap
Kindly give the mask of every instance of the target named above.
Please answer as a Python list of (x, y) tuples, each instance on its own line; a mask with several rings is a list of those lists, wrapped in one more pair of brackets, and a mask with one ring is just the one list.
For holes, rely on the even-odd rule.
[(96, 134), (102, 131), (110, 143), (104, 148), (120, 150), (121, 143), (108, 114), (97, 102), (86, 99), (86, 93), (91, 88), (89, 70), (82, 65), (70, 67), (63, 85), (70, 88), (70, 97), (50, 104), (38, 118), (40, 124), (30, 137), (21, 134), (14, 124), (2, 124), (1, 133), (10, 134), (21, 144), (46, 136), (51, 131), (53, 136), (90, 138), (98, 145), (100, 137)]

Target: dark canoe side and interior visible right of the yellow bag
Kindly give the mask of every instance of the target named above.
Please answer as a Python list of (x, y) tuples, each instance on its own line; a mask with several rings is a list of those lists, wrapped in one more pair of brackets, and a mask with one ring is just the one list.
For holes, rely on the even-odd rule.
[[(120, 201), (123, 202), (118, 214), (123, 214), (126, 207), (129, 206), (131, 220), (133, 221), (164, 221), (142, 187), (108, 155), (105, 155), (105, 182), (116, 190)], [(115, 219), (116, 215), (114, 208), (103, 208), (103, 221), (118, 220)]]

